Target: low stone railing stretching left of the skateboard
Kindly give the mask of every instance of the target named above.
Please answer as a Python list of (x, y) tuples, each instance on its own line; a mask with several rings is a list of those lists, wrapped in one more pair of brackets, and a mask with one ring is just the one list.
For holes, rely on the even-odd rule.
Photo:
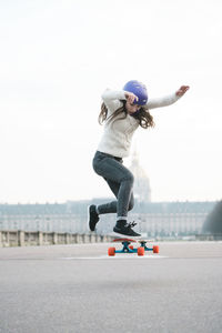
[(81, 244), (110, 242), (113, 238), (99, 234), (58, 233), (41, 231), (0, 231), (0, 248), (53, 244)]

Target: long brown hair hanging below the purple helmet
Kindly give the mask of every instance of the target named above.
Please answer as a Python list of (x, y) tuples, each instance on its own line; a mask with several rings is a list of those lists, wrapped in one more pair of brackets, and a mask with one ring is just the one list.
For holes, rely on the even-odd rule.
[[(125, 100), (122, 100), (121, 102), (123, 103), (123, 105), (117, 109), (109, 118), (108, 118), (108, 108), (103, 102), (101, 104), (101, 111), (98, 118), (99, 123), (102, 124), (105, 120), (111, 120), (121, 113), (123, 113), (123, 117), (119, 118), (118, 120), (125, 119), (128, 115), (128, 111), (125, 108)], [(149, 110), (145, 107), (141, 107), (140, 110), (135, 112), (135, 114), (132, 117), (138, 119), (139, 124), (143, 129), (153, 128), (155, 125), (153, 121), (153, 117), (150, 114)]]

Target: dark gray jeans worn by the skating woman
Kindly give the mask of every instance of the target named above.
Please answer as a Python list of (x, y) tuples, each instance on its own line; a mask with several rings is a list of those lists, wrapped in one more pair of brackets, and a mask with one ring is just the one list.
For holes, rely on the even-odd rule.
[(124, 165), (122, 159), (97, 151), (93, 158), (94, 171), (104, 178), (117, 200), (100, 204), (100, 214), (117, 213), (118, 218), (127, 216), (134, 205), (133, 199), (133, 174)]

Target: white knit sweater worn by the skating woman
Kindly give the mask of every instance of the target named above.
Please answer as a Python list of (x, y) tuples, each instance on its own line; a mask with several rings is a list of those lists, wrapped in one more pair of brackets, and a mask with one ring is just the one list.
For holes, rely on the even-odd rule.
[[(175, 93), (160, 98), (151, 99), (148, 101), (147, 109), (154, 109), (167, 107), (175, 101), (180, 97)], [(98, 151), (111, 154), (117, 158), (125, 158), (130, 154), (131, 140), (134, 131), (139, 127), (139, 121), (134, 117), (128, 114), (125, 119), (119, 120), (123, 114), (119, 114), (114, 119), (109, 119), (109, 117), (119, 108), (122, 107), (120, 100), (125, 100), (124, 91), (113, 91), (107, 89), (102, 93), (102, 100), (108, 108), (108, 117), (104, 123), (104, 131), (101, 141), (98, 145)]]

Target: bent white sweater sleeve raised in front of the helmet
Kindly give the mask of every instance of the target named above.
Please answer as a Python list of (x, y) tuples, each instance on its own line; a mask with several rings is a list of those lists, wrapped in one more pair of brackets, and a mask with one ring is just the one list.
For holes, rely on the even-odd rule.
[(122, 107), (122, 103), (120, 100), (125, 100), (124, 91), (120, 90), (111, 90), (111, 89), (105, 89), (105, 91), (102, 93), (102, 100), (110, 111), (109, 113), (114, 112), (117, 109)]

